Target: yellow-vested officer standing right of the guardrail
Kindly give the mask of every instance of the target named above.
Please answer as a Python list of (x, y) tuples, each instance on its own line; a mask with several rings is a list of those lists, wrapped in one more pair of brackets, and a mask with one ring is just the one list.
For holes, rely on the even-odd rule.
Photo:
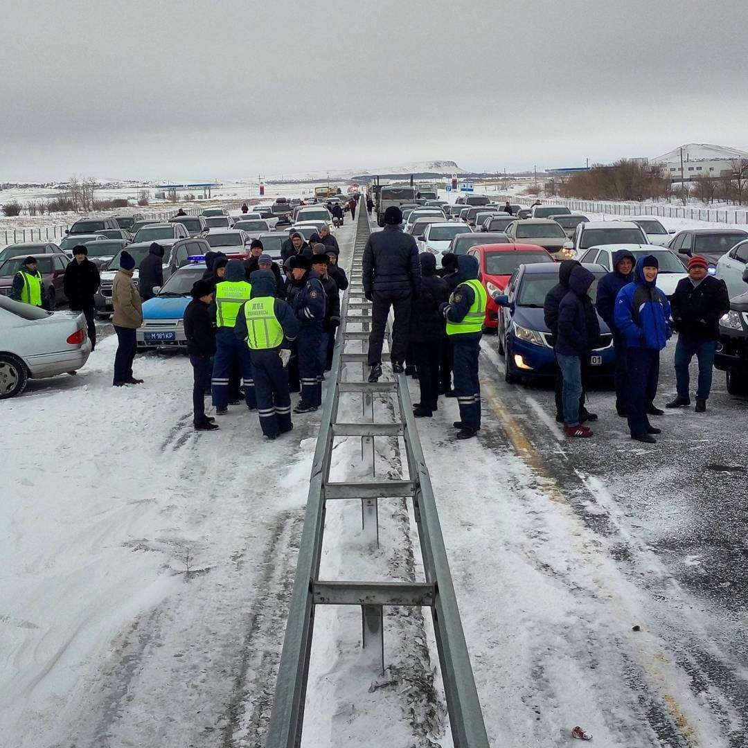
[(455, 392), (460, 408), (458, 439), (469, 439), (480, 429), (480, 383), (478, 355), (482, 336), (485, 288), (478, 280), (478, 260), (469, 254), (457, 257), (459, 283), (450, 300), (440, 305), (439, 311), (447, 320), (447, 335), (452, 343)]

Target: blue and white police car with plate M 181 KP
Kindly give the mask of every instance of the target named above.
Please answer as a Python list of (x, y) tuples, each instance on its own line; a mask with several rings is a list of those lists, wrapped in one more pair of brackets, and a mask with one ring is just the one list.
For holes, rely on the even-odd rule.
[(149, 348), (187, 347), (183, 325), (192, 283), (205, 272), (205, 263), (191, 263), (177, 269), (153, 298), (143, 302), (143, 325), (135, 331), (138, 351)]

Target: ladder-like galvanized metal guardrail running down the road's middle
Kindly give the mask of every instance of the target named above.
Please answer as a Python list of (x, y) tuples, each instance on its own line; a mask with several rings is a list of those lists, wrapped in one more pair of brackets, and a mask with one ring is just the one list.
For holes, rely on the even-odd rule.
[[(360, 605), (362, 614), (362, 644), (375, 647), (381, 653), (384, 667), (383, 607), (414, 605), (430, 607), (436, 644), (441, 665), (441, 676), (450, 715), (453, 743), (456, 748), (487, 748), (483, 715), (476, 692), (473, 669), (457, 607), (450, 574), (447, 552), (441, 534), (438, 512), (429, 470), (423, 458), (413, 417), (408, 382), (404, 374), (396, 381), (343, 381), (346, 365), (361, 363), (364, 379), (367, 375), (366, 355), (347, 353), (350, 340), (368, 339), (371, 304), (364, 298), (361, 283), (361, 260), (364, 245), (370, 234), (365, 209), (358, 217), (355, 247), (351, 265), (349, 290), (343, 299), (341, 324), (337, 332), (334, 362), (322, 420), (314, 453), (304, 529), (298, 550), (293, 594), (289, 606), (286, 637), (278, 669), (275, 699), (266, 748), (298, 748), (304, 723), (307, 678), (313, 638), (314, 612), (317, 605)], [(349, 310), (360, 314), (349, 316)], [(369, 318), (369, 319), (367, 319)], [(360, 325), (361, 331), (348, 327)], [(362, 343), (363, 347), (363, 343)], [(342, 393), (362, 393), (364, 413), (371, 405), (372, 422), (341, 423), (338, 417)], [(373, 399), (395, 393), (399, 423), (373, 423)], [(334, 438), (361, 437), (364, 449), (381, 436), (399, 436), (405, 442), (408, 465), (407, 479), (370, 482), (331, 482), (330, 466)], [(377, 502), (380, 498), (410, 497), (417, 523), (425, 581), (402, 582), (346, 582), (319, 579), (322, 556), (322, 536), (325, 528), (327, 500), (361, 500), (364, 530), (377, 533)]]

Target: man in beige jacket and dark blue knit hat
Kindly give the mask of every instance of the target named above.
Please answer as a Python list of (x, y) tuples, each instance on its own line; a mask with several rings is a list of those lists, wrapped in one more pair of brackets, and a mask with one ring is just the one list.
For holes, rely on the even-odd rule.
[(114, 332), (117, 333), (117, 353), (114, 355), (114, 387), (125, 384), (142, 384), (142, 379), (132, 376), (132, 360), (135, 358), (135, 330), (143, 324), (141, 298), (132, 271), (135, 258), (128, 251), (120, 254), (120, 269), (114, 275), (111, 286), (111, 304), (114, 307)]

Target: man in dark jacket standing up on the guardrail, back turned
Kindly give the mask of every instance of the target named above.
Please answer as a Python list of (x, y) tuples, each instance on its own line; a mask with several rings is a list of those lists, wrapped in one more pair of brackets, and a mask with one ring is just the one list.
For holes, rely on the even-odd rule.
[(402, 211), (391, 205), (384, 211), (384, 230), (376, 231), (364, 248), (364, 295), (373, 302), (369, 334), (369, 381), (381, 376), (381, 347), (390, 307), (395, 312), (392, 325), (390, 361), (394, 373), (402, 373), (408, 350), (411, 303), (420, 293), (418, 245), (410, 234), (402, 233)]

